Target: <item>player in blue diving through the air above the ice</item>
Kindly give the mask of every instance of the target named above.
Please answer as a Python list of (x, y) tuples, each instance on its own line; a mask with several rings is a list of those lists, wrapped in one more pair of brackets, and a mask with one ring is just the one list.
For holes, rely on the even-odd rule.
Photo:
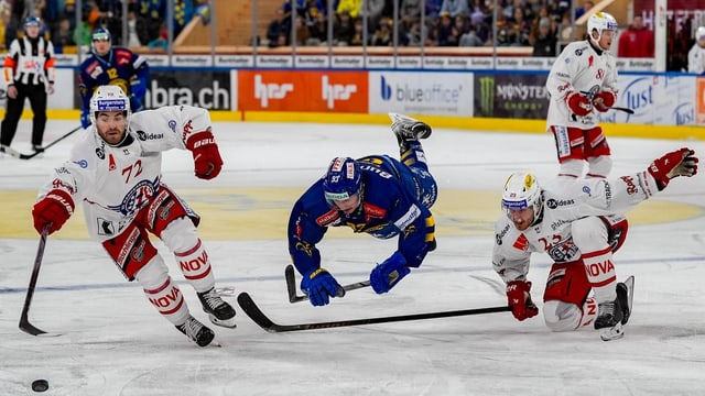
[(324, 306), (345, 290), (321, 267), (316, 248), (328, 227), (349, 227), (380, 239), (399, 237), (397, 251), (370, 273), (376, 293), (389, 292), (436, 248), (431, 207), (437, 185), (419, 142), (431, 128), (390, 113), (401, 161), (388, 155), (337, 157), (326, 175), (296, 201), (289, 219), (289, 253), (303, 275), (301, 289), (314, 306)]

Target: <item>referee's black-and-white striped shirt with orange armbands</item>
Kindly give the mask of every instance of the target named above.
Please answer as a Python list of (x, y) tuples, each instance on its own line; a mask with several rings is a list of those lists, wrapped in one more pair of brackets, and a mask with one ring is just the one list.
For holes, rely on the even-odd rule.
[(44, 36), (19, 37), (10, 44), (4, 58), (3, 78), (7, 85), (48, 85), (54, 82), (54, 45)]

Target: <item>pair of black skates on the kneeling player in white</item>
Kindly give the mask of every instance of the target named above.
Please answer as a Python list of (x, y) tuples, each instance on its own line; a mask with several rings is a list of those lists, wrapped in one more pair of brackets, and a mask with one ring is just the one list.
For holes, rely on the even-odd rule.
[(625, 337), (623, 326), (631, 316), (633, 302), (634, 277), (617, 284), (617, 298), (614, 301), (600, 302), (597, 307), (595, 329), (600, 330), (603, 341), (618, 340)]

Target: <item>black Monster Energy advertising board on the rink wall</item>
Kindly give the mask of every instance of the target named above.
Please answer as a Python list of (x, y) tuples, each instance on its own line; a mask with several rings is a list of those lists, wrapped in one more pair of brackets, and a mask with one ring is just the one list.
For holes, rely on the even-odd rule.
[(545, 119), (547, 75), (476, 74), (475, 117)]

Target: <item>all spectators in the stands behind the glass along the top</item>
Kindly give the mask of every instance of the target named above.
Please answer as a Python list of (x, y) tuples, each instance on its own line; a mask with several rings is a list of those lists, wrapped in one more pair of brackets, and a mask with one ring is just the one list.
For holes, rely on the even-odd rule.
[[(0, 0), (0, 52), (6, 52), (12, 40), (23, 34), (22, 21), (30, 15), (44, 21), (42, 34), (59, 54), (77, 44), (90, 45), (90, 33), (97, 26), (110, 31), (115, 45), (166, 50), (167, 2), (174, 4), (173, 38), (196, 15), (204, 23), (209, 20), (210, 0), (124, 1), (128, 1), (127, 37), (122, 37), (120, 0), (84, 0), (82, 10), (76, 10), (76, 0)], [(328, 1), (333, 2), (330, 18)], [(556, 56), (562, 45), (574, 38), (568, 35), (571, 30), (564, 28), (593, 7), (590, 0), (578, 2), (572, 15), (570, 0), (499, 0), (497, 10), (494, 0), (399, 0), (398, 10), (392, 0), (284, 0), (265, 36), (259, 38), (270, 47), (291, 46), (293, 40), (300, 46), (328, 45), (330, 37), (335, 46), (531, 46), (534, 56)], [(643, 20), (636, 15), (628, 26), (627, 21), (620, 22), (626, 29), (620, 32), (618, 55), (652, 57), (653, 32), (644, 26)], [(496, 37), (492, 23), (497, 26)], [(694, 43), (690, 20), (682, 23), (682, 29), (674, 29), (676, 23), (669, 21), (669, 70), (684, 67), (687, 50)]]

